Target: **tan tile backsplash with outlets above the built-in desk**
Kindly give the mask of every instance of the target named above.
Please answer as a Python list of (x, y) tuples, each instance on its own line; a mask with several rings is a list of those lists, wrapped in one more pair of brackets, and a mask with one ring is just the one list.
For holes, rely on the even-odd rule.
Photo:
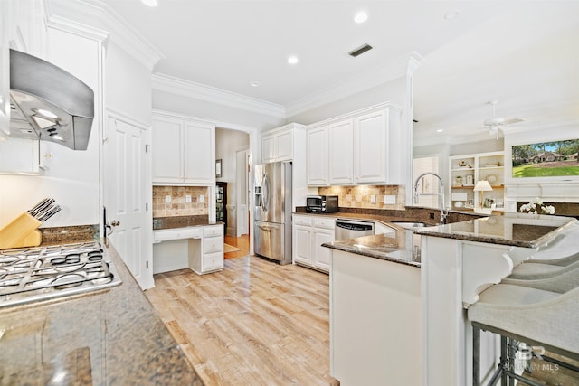
[[(185, 196), (191, 202), (185, 202)], [(204, 196), (200, 202), (199, 196)], [(171, 202), (166, 202), (171, 196)], [(153, 186), (153, 217), (209, 215), (209, 188), (206, 186)]]

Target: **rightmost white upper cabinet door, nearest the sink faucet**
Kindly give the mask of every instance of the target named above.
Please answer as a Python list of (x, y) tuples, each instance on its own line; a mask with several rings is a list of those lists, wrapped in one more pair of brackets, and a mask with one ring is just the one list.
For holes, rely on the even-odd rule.
[(387, 182), (387, 134), (384, 110), (356, 118), (356, 184)]

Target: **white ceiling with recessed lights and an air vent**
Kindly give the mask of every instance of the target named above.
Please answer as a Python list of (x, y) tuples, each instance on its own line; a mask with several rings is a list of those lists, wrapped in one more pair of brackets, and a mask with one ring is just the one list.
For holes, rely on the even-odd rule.
[(579, 121), (577, 1), (106, 1), (164, 56), (154, 72), (286, 109), (417, 52), (415, 142), (480, 135), (491, 99), (517, 127)]

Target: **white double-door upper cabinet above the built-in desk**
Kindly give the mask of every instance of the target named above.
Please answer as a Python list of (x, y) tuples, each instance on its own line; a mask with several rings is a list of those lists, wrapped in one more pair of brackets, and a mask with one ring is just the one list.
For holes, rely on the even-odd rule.
[(213, 125), (156, 112), (152, 146), (153, 184), (214, 184)]

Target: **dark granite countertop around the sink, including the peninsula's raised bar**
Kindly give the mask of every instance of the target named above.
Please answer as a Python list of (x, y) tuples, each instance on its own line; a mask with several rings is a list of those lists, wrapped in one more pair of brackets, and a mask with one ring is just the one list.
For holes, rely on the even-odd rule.
[[(340, 208), (340, 211), (342, 211), (342, 208)], [(414, 267), (421, 266), (420, 235), (536, 248), (536, 246), (546, 240), (555, 238), (556, 234), (565, 229), (567, 224), (577, 222), (574, 218), (551, 215), (505, 212), (502, 215), (484, 216), (451, 211), (448, 217), (451, 223), (436, 225), (435, 220), (432, 220), (432, 213), (434, 213), (434, 218), (437, 219), (440, 211), (430, 208), (407, 207), (406, 211), (296, 212), (296, 214), (383, 222), (397, 231), (394, 234), (387, 233), (352, 240), (338, 240), (322, 244), (322, 246)], [(428, 226), (407, 230), (397, 225), (395, 221), (420, 221)]]

